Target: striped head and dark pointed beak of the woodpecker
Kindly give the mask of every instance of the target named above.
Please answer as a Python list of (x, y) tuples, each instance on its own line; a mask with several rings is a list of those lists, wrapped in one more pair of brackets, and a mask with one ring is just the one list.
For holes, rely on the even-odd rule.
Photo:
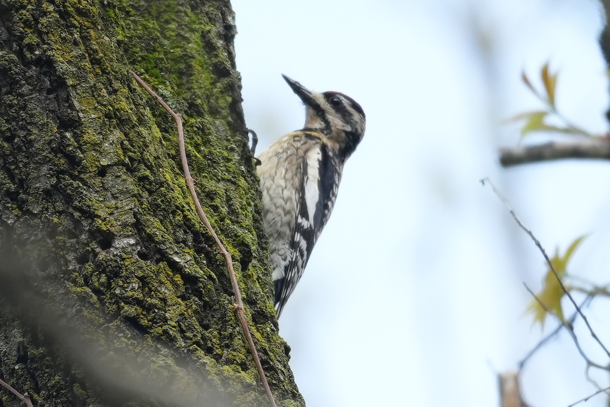
[(362, 107), (343, 93), (312, 92), (296, 80), (282, 77), (306, 106), (304, 130), (323, 133), (336, 143), (337, 152), (344, 160), (350, 157), (364, 136)]

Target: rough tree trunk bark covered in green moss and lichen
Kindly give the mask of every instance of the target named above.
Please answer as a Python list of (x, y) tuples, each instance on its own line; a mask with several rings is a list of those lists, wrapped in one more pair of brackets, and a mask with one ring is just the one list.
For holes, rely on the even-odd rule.
[[(0, 0), (0, 378), (38, 406), (268, 405), (223, 258), (284, 406), (228, 0)], [(20, 402), (0, 390), (0, 406)]]

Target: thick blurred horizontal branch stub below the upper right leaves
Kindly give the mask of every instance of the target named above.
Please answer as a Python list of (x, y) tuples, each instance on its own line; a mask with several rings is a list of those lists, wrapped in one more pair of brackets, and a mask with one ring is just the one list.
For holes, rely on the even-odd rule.
[(597, 158), (610, 160), (610, 138), (579, 138), (572, 141), (551, 141), (539, 146), (504, 147), (500, 163), (504, 167), (561, 158)]

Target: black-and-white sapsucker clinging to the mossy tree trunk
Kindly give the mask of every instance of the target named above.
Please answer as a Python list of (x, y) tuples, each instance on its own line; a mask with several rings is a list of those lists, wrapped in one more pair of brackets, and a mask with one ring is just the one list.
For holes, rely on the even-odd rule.
[(362, 107), (345, 94), (316, 93), (282, 75), (306, 107), (305, 126), (259, 156), (278, 317), (303, 275), (329, 216), (345, 160), (364, 136)]

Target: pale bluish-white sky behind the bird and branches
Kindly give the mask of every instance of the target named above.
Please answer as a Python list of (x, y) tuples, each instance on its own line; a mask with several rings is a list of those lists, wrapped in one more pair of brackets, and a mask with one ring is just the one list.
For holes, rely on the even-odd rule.
[[(539, 85), (547, 61), (559, 71), (559, 109), (591, 132), (606, 131), (601, 6), (232, 4), (243, 107), (259, 152), (303, 126), (303, 105), (282, 73), (312, 90), (348, 94), (367, 115), (334, 212), (279, 321), (307, 406), (498, 406), (496, 373), (515, 369), (556, 324), (549, 320), (542, 332), (525, 313), (530, 297), (522, 283), (540, 289), (544, 258), (479, 179), (495, 182), (550, 254), (590, 233), (569, 271), (610, 280), (610, 165), (503, 169), (497, 152), (519, 140), (519, 124), (504, 119), (542, 108), (520, 73)], [(609, 308), (597, 300), (587, 310), (607, 345)], [(584, 368), (563, 333), (524, 370), (526, 401), (567, 406), (592, 394)], [(609, 385), (608, 375), (596, 377)]]

